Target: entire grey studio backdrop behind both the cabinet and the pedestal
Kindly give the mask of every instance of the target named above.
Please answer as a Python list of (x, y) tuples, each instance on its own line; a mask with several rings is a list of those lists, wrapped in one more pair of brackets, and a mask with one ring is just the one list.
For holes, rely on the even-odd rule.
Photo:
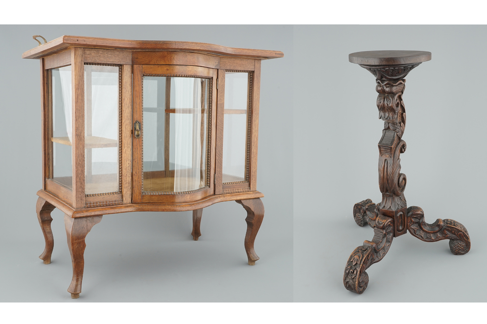
[[(485, 302), (487, 238), (483, 205), (486, 26), (0, 26), (4, 127), (0, 159), (1, 302)], [(79, 300), (66, 291), (71, 259), (63, 215), (53, 212), (52, 264), (37, 256), (44, 240), (35, 215), (41, 184), (39, 64), (20, 55), (48, 40), (79, 35), (185, 40), (278, 50), (262, 62), (257, 189), (265, 216), (246, 265), (245, 211), (235, 202), (203, 211), (191, 240), (191, 214), (104, 216), (88, 234)], [(373, 230), (360, 228), (353, 205), (380, 200), (377, 143), (383, 122), (374, 76), (348, 62), (367, 50), (430, 51), (407, 77), (408, 148), (401, 155), (408, 205), (426, 220), (464, 224), (472, 248), (410, 234), (369, 273), (362, 295), (342, 277), (350, 253)]]

